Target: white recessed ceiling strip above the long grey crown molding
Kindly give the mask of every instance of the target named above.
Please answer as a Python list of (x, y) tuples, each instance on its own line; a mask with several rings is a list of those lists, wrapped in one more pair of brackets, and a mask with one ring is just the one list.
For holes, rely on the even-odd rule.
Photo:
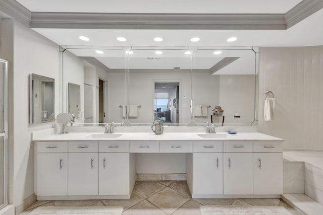
[(18, 0), (32, 12), (285, 14), (301, 0)]

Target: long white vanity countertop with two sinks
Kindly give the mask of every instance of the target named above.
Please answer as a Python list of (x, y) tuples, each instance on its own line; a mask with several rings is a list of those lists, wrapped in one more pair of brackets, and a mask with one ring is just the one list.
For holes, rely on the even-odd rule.
[[(108, 138), (93, 138), (92, 134), (100, 134), (102, 132), (70, 132), (68, 134), (49, 134), (43, 136), (33, 136), (32, 141), (52, 141), (52, 140), (276, 140), (284, 139), (266, 135), (259, 132), (238, 132), (237, 134), (228, 134), (226, 132), (218, 132), (219, 137), (204, 138), (198, 134), (206, 134), (202, 132), (164, 132), (163, 134), (155, 134), (153, 132), (118, 132), (114, 134), (103, 134)], [(122, 134), (119, 137), (109, 138), (109, 135)], [(226, 134), (224, 136), (224, 134)]]

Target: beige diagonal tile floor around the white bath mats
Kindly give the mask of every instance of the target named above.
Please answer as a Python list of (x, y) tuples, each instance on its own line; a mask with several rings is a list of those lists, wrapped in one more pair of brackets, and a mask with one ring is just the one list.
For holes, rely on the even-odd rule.
[(124, 215), (200, 215), (200, 205), (280, 205), (299, 215), (281, 199), (193, 199), (186, 181), (137, 181), (130, 199), (36, 201), (23, 214), (38, 206), (123, 206)]

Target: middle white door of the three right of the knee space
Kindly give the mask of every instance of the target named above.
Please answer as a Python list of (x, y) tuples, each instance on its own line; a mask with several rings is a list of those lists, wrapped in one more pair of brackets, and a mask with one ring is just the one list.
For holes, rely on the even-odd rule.
[(223, 153), (223, 193), (253, 194), (252, 153)]

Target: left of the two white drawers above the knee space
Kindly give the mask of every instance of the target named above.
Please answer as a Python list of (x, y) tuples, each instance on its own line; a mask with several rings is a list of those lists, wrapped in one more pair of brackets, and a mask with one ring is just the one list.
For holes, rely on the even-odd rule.
[(129, 142), (130, 153), (159, 152), (159, 141), (133, 140)]

